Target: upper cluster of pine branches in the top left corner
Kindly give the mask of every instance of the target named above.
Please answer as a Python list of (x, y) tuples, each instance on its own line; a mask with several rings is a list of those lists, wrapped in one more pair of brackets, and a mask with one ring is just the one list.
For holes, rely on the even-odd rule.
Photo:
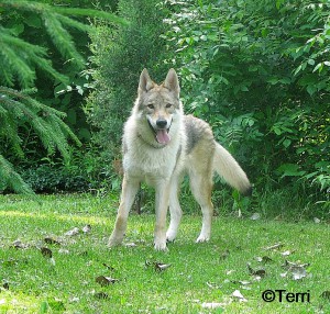
[[(3, 0), (0, 3), (0, 8), (2, 9), (4, 23), (8, 20), (11, 21), (11, 19), (14, 19), (16, 12), (32, 14), (28, 23), (33, 27), (40, 29), (43, 23), (48, 38), (51, 38), (61, 56), (64, 60), (70, 60), (77, 69), (85, 67), (85, 59), (77, 51), (67, 29), (87, 32), (91, 27), (67, 15), (103, 18), (116, 23), (124, 23), (122, 19), (108, 12), (91, 9), (63, 8), (40, 1)], [(46, 48), (19, 38), (18, 35), (24, 30), (22, 30), (22, 24), (13, 24), (12, 26), (10, 29), (0, 27), (0, 65), (2, 68), (0, 85), (14, 87), (19, 83), (22, 88), (33, 87), (36, 79), (36, 68), (48, 72), (55, 79), (67, 85), (69, 82), (68, 78), (54, 69), (51, 60), (47, 58), (48, 52)]]

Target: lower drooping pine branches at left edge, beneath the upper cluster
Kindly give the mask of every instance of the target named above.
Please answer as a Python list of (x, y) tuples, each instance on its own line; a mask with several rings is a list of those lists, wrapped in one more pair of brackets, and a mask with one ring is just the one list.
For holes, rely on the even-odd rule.
[[(79, 144), (79, 139), (63, 122), (64, 114), (55, 109), (44, 105), (30, 96), (16, 90), (0, 87), (0, 147), (1, 147), (1, 183), (2, 190), (11, 188), (16, 192), (31, 192), (13, 167), (3, 158), (13, 155), (24, 158), (23, 138), (20, 127), (33, 130), (40, 137), (48, 154), (59, 150), (68, 159), (67, 137)], [(10, 152), (10, 154), (9, 154)]]

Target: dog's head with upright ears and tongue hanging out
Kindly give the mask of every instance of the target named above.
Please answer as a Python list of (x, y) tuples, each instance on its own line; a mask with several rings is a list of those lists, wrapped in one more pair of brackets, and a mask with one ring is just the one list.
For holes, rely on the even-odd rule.
[(135, 108), (139, 116), (148, 124), (155, 141), (161, 145), (170, 142), (170, 128), (177, 113), (182, 111), (179, 83), (170, 69), (162, 85), (156, 85), (144, 69), (140, 76)]

